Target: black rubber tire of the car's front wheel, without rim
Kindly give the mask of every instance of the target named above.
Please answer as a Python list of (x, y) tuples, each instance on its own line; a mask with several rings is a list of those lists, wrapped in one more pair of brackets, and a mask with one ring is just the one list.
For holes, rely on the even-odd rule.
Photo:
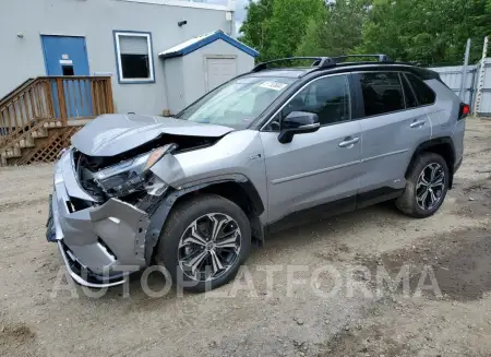
[[(196, 282), (187, 276), (179, 265), (179, 241), (184, 230), (199, 217), (220, 213), (230, 216), (239, 226), (240, 250), (231, 266), (220, 276), (212, 281)], [(172, 277), (175, 284), (183, 282), (182, 288), (188, 291), (203, 293), (214, 289), (231, 281), (240, 266), (249, 257), (251, 250), (251, 227), (246, 213), (233, 202), (217, 195), (203, 194), (192, 200), (178, 203), (167, 217), (166, 224), (159, 237), (155, 260), (157, 264), (164, 265)], [(192, 285), (190, 285), (192, 284)]]

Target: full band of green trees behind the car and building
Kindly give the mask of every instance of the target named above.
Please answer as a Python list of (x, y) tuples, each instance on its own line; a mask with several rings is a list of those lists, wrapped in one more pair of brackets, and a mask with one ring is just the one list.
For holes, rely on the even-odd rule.
[(470, 61), (491, 35), (491, 0), (251, 0), (241, 27), (260, 61), (290, 56), (386, 53), (422, 64)]

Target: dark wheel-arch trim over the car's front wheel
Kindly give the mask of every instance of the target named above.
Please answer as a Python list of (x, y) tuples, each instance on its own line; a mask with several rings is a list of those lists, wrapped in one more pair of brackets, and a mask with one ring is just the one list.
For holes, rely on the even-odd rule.
[(145, 235), (145, 261), (147, 265), (152, 263), (152, 254), (154, 248), (157, 245), (158, 237), (160, 237), (161, 229), (164, 228), (164, 224), (166, 223), (167, 216), (172, 210), (176, 201), (184, 194), (225, 182), (235, 182), (240, 185), (244, 189), (253, 204), (254, 212), (256, 213), (255, 218), (251, 219), (250, 217), (251, 229), (259, 236), (259, 239), (261, 241), (264, 240), (264, 231), (263, 229), (259, 229), (258, 227), (258, 225), (260, 225), (258, 217), (264, 212), (264, 204), (254, 185), (252, 185), (252, 182), (241, 174), (224, 175), (206, 180), (192, 182), (179, 187), (177, 188), (177, 190), (171, 190), (153, 205), (154, 210), (149, 213), (149, 225)]

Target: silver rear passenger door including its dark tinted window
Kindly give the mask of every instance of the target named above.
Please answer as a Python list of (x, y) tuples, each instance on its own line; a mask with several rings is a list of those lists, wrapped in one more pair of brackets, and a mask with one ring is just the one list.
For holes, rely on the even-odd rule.
[(405, 187), (409, 160), (416, 147), (431, 138), (431, 122), (402, 73), (354, 75), (360, 98), (363, 171), (360, 205), (363, 205), (371, 203), (363, 202), (364, 199), (391, 194)]

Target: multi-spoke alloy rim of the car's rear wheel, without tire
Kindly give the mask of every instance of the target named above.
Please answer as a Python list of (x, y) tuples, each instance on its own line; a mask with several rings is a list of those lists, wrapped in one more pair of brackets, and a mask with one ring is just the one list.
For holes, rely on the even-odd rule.
[(445, 171), (440, 164), (427, 165), (416, 183), (416, 202), (421, 210), (434, 209), (443, 198), (445, 190)]

